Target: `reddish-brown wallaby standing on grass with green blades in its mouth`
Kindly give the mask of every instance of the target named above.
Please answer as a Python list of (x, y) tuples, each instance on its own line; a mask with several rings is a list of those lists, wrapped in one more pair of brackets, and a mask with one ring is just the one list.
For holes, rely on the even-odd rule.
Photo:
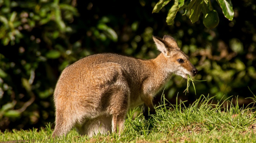
[(121, 135), (129, 108), (144, 104), (144, 116), (155, 114), (152, 99), (172, 73), (187, 79), (197, 69), (171, 36), (153, 36), (160, 55), (143, 60), (111, 53), (80, 59), (66, 67), (54, 91), (52, 137), (76, 127), (80, 135), (117, 132)]

